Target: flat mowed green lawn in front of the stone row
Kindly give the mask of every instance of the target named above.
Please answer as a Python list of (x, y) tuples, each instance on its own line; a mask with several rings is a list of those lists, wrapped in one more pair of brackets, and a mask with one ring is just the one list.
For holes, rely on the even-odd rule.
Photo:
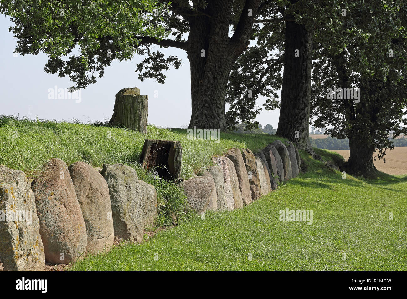
[[(71, 270), (407, 270), (407, 177), (342, 179), (306, 161), (306, 173), (241, 210), (190, 218)], [(287, 207), (313, 210), (313, 224), (279, 221)]]

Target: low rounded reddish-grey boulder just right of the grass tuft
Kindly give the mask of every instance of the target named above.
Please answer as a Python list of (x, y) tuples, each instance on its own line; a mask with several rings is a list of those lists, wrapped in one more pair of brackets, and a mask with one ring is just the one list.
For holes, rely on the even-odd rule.
[[(181, 183), (186, 200), (198, 214), (206, 212), (209, 203), (217, 203), (215, 183), (209, 177), (193, 177)], [(214, 207), (212, 206), (212, 210)]]

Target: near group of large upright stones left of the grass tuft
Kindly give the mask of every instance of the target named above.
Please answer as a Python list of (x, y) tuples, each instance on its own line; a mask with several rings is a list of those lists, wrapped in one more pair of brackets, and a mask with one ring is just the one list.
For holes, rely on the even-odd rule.
[(155, 223), (157, 194), (124, 164), (68, 168), (53, 158), (31, 183), (24, 172), (0, 166), (0, 213), (4, 270), (42, 271), (45, 262), (109, 251), (114, 236), (141, 241)]

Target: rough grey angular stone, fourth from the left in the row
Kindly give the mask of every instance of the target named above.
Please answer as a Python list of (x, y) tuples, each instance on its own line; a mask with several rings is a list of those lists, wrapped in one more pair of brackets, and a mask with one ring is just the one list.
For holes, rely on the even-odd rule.
[(124, 164), (103, 164), (101, 175), (109, 187), (114, 235), (142, 241), (144, 206), (136, 170)]

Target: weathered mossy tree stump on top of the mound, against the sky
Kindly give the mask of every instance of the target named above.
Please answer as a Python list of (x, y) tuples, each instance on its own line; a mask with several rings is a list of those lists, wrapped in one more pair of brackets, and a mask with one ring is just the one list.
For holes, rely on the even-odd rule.
[(147, 134), (149, 96), (140, 96), (140, 89), (127, 87), (116, 94), (113, 116), (109, 124), (120, 125)]

